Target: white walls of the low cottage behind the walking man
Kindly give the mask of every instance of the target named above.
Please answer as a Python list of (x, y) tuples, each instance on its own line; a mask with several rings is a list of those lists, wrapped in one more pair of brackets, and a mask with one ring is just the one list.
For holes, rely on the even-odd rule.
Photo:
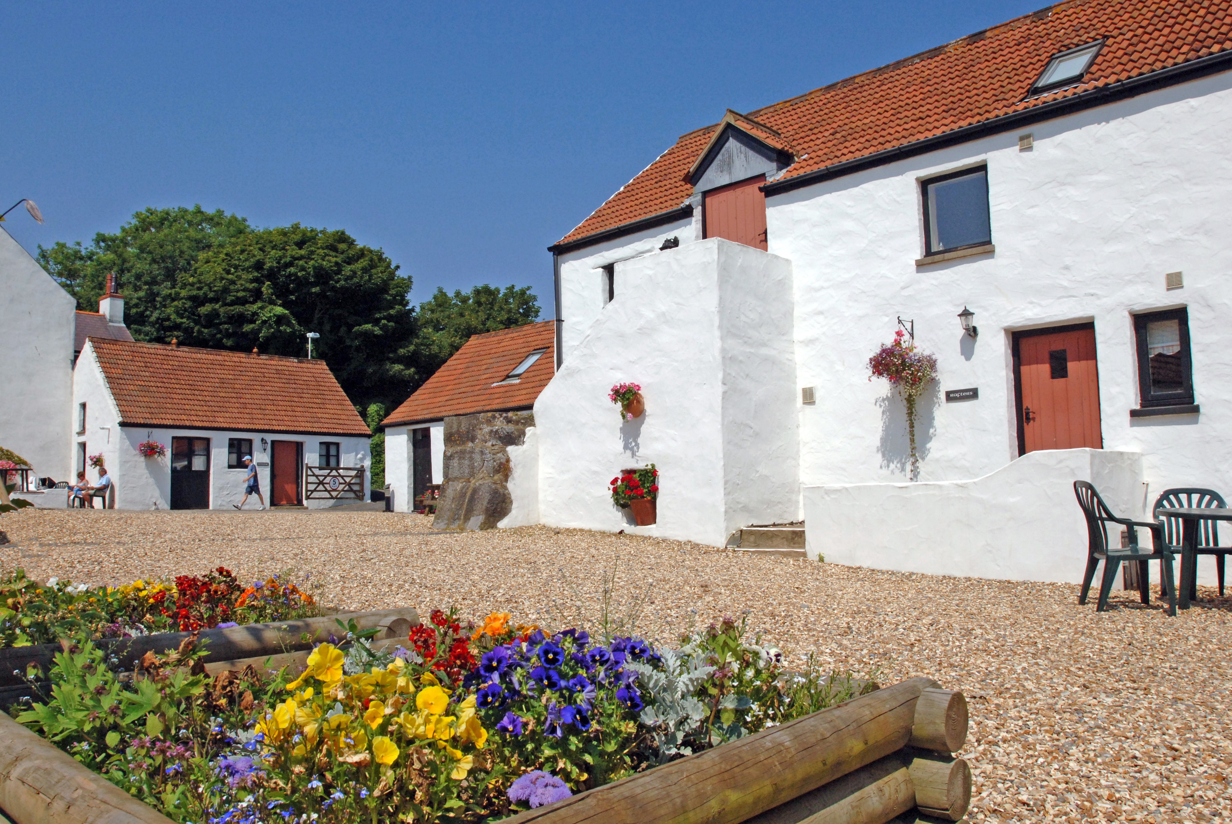
[[(76, 443), (85, 441), (86, 453), (102, 453), (103, 464), (116, 485), (117, 509), (170, 509), (171, 506), (171, 438), (208, 437), (209, 438), (209, 507), (230, 509), (244, 496), (246, 468), (227, 468), (228, 440), (233, 437), (253, 441), (253, 458), (256, 463), (257, 483), (270, 505), (270, 452), (261, 450), (261, 438), (266, 441), (299, 441), (303, 443), (304, 463), (315, 467), (319, 463), (322, 441), (339, 443), (344, 468), (363, 467), (363, 488), (367, 491), (372, 478), (372, 466), (368, 453), (370, 442), (366, 437), (339, 435), (285, 434), (253, 430), (246, 432), (219, 431), (206, 429), (168, 429), (148, 426), (121, 426), (120, 410), (107, 392), (102, 371), (89, 344), (83, 350), (74, 370), (74, 409), (76, 403), (86, 403), (86, 431), (73, 437), (75, 454)], [(137, 451), (137, 445), (154, 440), (168, 448), (166, 457), (145, 458)], [(73, 475), (76, 475), (74, 471)], [(97, 482), (97, 472), (86, 469), (90, 483)], [(302, 491), (307, 491), (306, 489)], [(354, 500), (323, 500), (304, 498), (308, 509), (328, 509), (339, 504), (351, 504)], [(250, 496), (245, 509), (255, 509), (259, 501)]]

